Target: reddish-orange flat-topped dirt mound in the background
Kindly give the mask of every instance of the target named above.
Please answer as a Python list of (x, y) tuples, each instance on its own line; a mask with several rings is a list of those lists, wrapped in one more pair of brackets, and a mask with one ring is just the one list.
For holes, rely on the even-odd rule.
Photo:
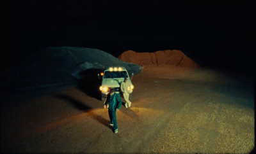
[(118, 56), (118, 59), (124, 62), (131, 62), (143, 67), (148, 66), (181, 66), (181, 67), (196, 67), (197, 64), (189, 59), (180, 50), (163, 50), (157, 52), (134, 52), (128, 50)]

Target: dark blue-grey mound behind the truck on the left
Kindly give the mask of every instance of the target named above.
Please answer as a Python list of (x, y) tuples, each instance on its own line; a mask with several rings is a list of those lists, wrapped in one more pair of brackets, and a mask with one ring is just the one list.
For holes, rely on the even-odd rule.
[(116, 59), (95, 48), (47, 47), (20, 60), (8, 72), (1, 73), (1, 86), (13, 85), (20, 89), (69, 84), (83, 78), (81, 73), (86, 70), (108, 66), (124, 66), (129, 73), (141, 72), (141, 66)]

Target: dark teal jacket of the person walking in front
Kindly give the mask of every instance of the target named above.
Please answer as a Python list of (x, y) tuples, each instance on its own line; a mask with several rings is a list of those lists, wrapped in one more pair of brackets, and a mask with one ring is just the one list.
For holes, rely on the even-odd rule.
[(109, 104), (108, 109), (115, 111), (115, 109), (120, 109), (122, 106), (122, 99), (120, 94), (114, 93), (113, 95), (108, 94), (105, 105)]

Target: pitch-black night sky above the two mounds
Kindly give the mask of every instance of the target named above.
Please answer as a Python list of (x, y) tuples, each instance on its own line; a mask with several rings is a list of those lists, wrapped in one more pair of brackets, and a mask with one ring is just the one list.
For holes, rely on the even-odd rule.
[(1, 1), (1, 68), (47, 46), (181, 50), (204, 65), (255, 72), (255, 1)]

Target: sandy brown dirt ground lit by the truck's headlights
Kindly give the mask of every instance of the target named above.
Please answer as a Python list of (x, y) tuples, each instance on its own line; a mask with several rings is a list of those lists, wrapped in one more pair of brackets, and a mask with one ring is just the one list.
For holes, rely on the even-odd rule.
[(250, 153), (253, 82), (212, 69), (147, 67), (131, 108), (109, 126), (103, 102), (77, 87), (2, 106), (1, 151), (15, 153)]

